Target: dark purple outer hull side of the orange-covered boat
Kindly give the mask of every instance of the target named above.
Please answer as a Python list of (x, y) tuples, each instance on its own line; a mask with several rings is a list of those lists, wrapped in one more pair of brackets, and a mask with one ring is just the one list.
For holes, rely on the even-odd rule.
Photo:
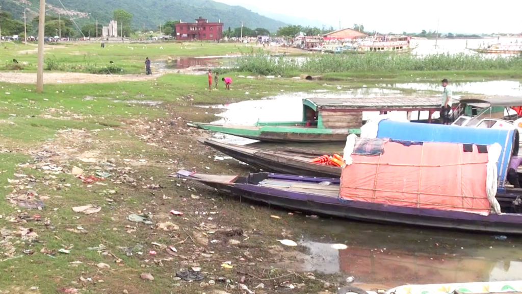
[[(299, 180), (299, 177), (295, 178)], [(522, 234), (522, 216), (520, 214), (482, 216), (468, 212), (348, 201), (338, 197), (296, 193), (253, 184), (218, 183), (197, 178), (195, 180), (225, 193), (289, 210), (384, 224), (416, 225), (495, 234)], [(317, 180), (324, 181), (324, 179)]]

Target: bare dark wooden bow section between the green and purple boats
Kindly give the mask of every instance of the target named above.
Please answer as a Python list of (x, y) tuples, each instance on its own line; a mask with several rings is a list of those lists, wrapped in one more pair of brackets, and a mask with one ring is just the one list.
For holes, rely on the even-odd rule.
[[(341, 176), (341, 168), (311, 162), (317, 156), (241, 146), (215, 140), (199, 142), (263, 171), (316, 177)], [(321, 154), (324, 155), (325, 153)]]

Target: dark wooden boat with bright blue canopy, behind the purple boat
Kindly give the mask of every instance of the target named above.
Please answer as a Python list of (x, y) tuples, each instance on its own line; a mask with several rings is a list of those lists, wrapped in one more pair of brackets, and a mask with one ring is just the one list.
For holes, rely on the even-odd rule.
[[(511, 150), (518, 146), (518, 135), (514, 129), (464, 128), (393, 120), (380, 121), (377, 125), (375, 137), (462, 144), (491, 145), (499, 143), (502, 146), (502, 162), (508, 162), (511, 157)], [(328, 152), (311, 152), (291, 148), (282, 148), (281, 151), (274, 151), (218, 142), (212, 139), (200, 139), (199, 142), (266, 172), (333, 178), (339, 178), (341, 175), (340, 167), (311, 162), (315, 157), (329, 154)], [(340, 152), (338, 153), (341, 154)], [(503, 183), (507, 169), (503, 168), (499, 163), (498, 171), (499, 178)]]

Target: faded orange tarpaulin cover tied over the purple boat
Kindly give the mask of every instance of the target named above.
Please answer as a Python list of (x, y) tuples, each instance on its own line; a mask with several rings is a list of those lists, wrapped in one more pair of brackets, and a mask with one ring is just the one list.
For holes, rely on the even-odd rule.
[(388, 205), (487, 214), (488, 153), (462, 144), (387, 142), (380, 156), (352, 155), (343, 169), (340, 197)]

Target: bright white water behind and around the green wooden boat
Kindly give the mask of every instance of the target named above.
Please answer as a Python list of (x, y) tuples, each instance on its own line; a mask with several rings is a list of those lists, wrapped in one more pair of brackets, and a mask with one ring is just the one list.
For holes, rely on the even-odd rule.
[[(323, 86), (323, 89), (317, 89), (307, 93), (282, 93), (277, 96), (266, 97), (261, 100), (246, 100), (239, 103), (228, 105), (210, 106), (222, 109), (217, 115), (217, 120), (213, 123), (229, 123), (232, 125), (254, 125), (257, 121), (300, 121), (302, 120), (302, 99), (311, 97), (328, 97), (328, 98), (350, 98), (350, 97), (379, 97), (379, 96), (407, 96), (400, 88), (414, 89), (419, 91), (416, 95), (433, 96), (442, 93), (442, 86), (438, 83), (397, 83), (397, 84), (375, 84), (366, 87), (333, 91), (333, 86)], [(464, 94), (480, 94), (480, 95), (506, 95), (521, 96), (522, 83), (518, 81), (487, 81), (487, 82), (467, 82), (452, 84), (454, 98)], [(401, 111), (392, 111), (390, 115), (406, 118), (406, 113)], [(363, 120), (378, 116), (378, 112), (363, 112)], [(413, 111), (411, 118), (416, 119), (418, 112)], [(421, 111), (421, 119), (428, 118), (428, 111)], [(437, 118), (437, 114), (434, 114)], [(227, 142), (235, 144), (250, 144), (255, 141), (234, 137), (230, 135), (215, 134), (217, 139), (224, 139)], [(258, 146), (267, 146), (270, 148), (272, 144), (257, 143)], [(324, 145), (318, 146), (312, 144), (313, 148), (325, 151), (339, 151), (334, 145), (333, 148), (326, 149)], [(306, 145), (300, 145), (307, 148)], [(319, 148), (321, 147), (321, 148)]]

